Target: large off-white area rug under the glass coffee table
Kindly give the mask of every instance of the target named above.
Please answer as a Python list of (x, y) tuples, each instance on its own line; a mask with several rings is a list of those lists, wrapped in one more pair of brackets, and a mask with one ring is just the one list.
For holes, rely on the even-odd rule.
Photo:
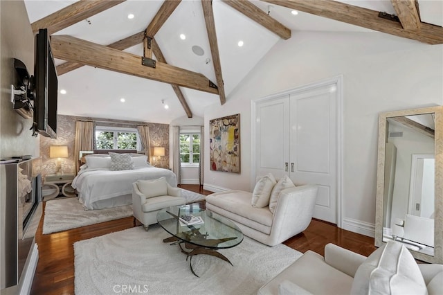
[(237, 247), (220, 250), (233, 266), (213, 256), (192, 258), (197, 278), (179, 246), (163, 243), (169, 236), (154, 224), (147, 232), (138, 226), (75, 242), (75, 294), (257, 294), (302, 255), (245, 237)]

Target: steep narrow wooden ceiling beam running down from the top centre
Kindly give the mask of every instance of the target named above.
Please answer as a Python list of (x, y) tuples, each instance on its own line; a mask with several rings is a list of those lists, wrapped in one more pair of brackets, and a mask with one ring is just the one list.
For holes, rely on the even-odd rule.
[(215, 78), (217, 79), (217, 86), (219, 87), (220, 103), (224, 105), (226, 97), (224, 95), (223, 75), (221, 75), (221, 63), (219, 56), (219, 46), (217, 43), (217, 34), (215, 33), (215, 21), (213, 12), (212, 0), (201, 0), (201, 7), (205, 16), (206, 31), (208, 32), (208, 39), (210, 45), (210, 53), (213, 57)]

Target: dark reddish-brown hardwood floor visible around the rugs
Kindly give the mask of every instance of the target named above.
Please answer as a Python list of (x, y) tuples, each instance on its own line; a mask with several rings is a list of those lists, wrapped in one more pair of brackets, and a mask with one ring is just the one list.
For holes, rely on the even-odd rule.
[[(209, 195), (198, 185), (182, 185), (181, 188)], [(204, 206), (204, 202), (199, 204)], [(42, 234), (43, 217), (40, 220), (35, 240), (39, 249), (39, 262), (35, 271), (31, 294), (74, 294), (73, 243), (115, 231), (134, 227), (134, 217), (93, 224), (49, 235)], [(302, 253), (307, 250), (324, 254), (325, 244), (334, 243), (351, 251), (368, 256), (375, 250), (374, 239), (358, 233), (338, 229), (334, 224), (312, 220), (309, 227), (284, 244)]]

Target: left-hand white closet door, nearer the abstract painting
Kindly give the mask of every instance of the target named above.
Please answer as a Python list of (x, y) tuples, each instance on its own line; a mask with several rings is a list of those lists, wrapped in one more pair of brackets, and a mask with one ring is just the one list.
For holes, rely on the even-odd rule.
[[(255, 112), (255, 168), (257, 177), (287, 175), (289, 161), (289, 96), (258, 102)], [(289, 166), (289, 163), (288, 163)]]

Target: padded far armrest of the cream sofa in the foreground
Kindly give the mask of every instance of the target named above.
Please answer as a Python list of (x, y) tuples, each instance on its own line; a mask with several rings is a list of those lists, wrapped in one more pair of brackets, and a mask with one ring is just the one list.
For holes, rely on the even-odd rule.
[(366, 256), (338, 247), (336, 244), (329, 243), (325, 246), (325, 262), (352, 278), (365, 259)]

